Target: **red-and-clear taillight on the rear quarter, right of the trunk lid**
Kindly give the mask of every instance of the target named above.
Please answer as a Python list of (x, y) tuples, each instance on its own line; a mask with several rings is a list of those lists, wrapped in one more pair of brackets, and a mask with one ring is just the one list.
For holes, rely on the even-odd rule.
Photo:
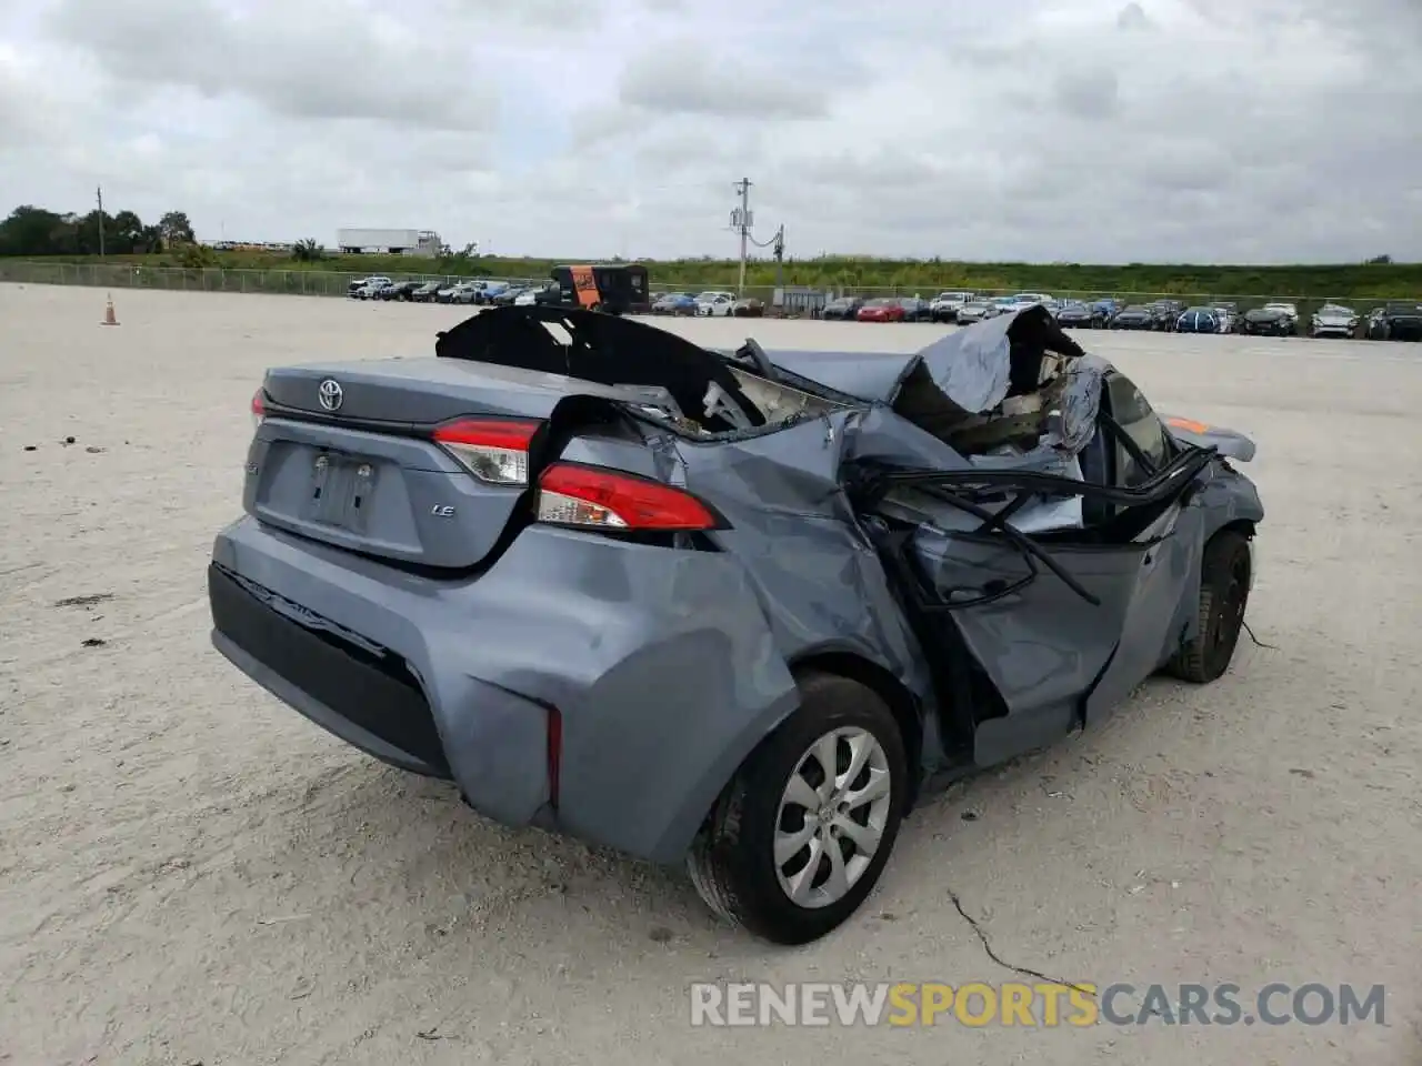
[(715, 529), (715, 515), (670, 485), (596, 466), (555, 463), (539, 478), (539, 522), (614, 532)]

